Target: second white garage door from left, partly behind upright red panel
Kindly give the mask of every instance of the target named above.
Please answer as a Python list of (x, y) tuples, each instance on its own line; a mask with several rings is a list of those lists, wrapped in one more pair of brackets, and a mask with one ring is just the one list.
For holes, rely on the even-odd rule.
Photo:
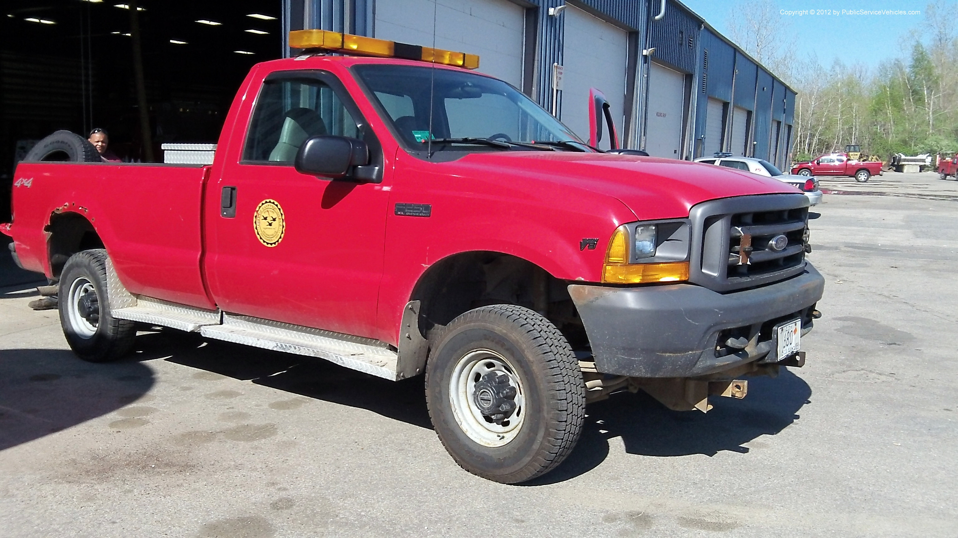
[[(565, 17), (564, 72), (559, 119), (588, 142), (589, 88), (598, 88), (611, 105), (621, 144), (626, 113), (628, 34), (572, 6), (568, 6), (562, 16)], [(608, 147), (605, 129), (601, 147)]]

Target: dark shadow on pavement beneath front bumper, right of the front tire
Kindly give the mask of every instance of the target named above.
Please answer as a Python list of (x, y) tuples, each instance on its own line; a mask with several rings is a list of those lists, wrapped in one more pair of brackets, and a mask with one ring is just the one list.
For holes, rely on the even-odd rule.
[(622, 437), (626, 452), (639, 456), (747, 454), (742, 444), (784, 430), (799, 418), (796, 413), (810, 396), (809, 385), (786, 369), (775, 379), (748, 378), (744, 399), (709, 398), (715, 407), (708, 414), (671, 411), (645, 392), (613, 394), (586, 408), (582, 437), (569, 458), (523, 485), (563, 482), (597, 467), (608, 455), (612, 437)]

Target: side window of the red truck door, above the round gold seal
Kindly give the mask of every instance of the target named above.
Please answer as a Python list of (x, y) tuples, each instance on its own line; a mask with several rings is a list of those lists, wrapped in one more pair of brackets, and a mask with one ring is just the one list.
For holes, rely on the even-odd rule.
[(319, 80), (271, 80), (262, 85), (243, 161), (292, 165), (296, 152), (319, 135), (358, 138), (353, 117)]

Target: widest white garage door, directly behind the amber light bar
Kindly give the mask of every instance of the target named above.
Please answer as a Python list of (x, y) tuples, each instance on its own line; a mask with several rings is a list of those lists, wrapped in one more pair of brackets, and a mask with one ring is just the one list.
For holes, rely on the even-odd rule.
[(508, 0), (376, 0), (376, 37), (479, 55), (479, 69), (522, 88), (525, 12)]

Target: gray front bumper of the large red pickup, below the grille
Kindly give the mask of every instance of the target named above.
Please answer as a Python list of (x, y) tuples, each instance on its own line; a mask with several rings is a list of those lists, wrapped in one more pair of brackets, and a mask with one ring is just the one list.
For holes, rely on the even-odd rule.
[[(765, 357), (768, 338), (758, 349), (761, 354), (753, 346), (747, 353), (716, 356), (716, 342), (724, 329), (753, 325), (753, 332), (761, 327), (767, 337), (769, 324), (785, 317), (802, 317), (803, 326), (810, 328), (810, 306), (822, 298), (825, 279), (811, 264), (806, 268), (788, 280), (726, 294), (694, 284), (571, 284), (569, 294), (585, 325), (597, 370), (687, 377)], [(755, 340), (760, 338), (756, 332)]]

